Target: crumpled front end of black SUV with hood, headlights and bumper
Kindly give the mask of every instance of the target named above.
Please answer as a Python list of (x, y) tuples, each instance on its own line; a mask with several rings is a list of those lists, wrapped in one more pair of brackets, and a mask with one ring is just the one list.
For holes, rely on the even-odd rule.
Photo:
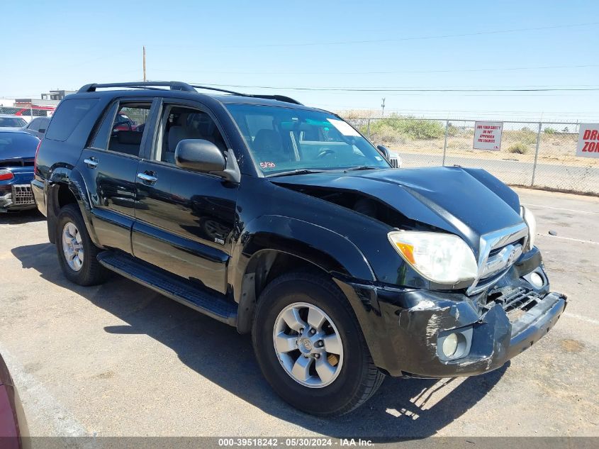
[(534, 216), (488, 172), (433, 167), (276, 182), (388, 226), (386, 239), (352, 234), (376, 282), (336, 281), (374, 362), (390, 375), (494, 370), (544, 336), (566, 307), (566, 296), (549, 291)]

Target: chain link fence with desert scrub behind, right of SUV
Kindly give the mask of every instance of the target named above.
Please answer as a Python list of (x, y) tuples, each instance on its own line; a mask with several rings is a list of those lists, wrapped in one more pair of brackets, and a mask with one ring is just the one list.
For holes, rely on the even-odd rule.
[(506, 184), (599, 194), (599, 159), (576, 156), (578, 123), (504, 121), (499, 150), (474, 149), (474, 120), (346, 118), (402, 167), (480, 167)]

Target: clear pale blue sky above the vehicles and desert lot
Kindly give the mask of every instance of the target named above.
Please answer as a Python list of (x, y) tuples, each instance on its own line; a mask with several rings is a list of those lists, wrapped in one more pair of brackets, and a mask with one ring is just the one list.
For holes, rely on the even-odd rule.
[[(3, 2), (0, 12), (11, 43), (2, 52), (5, 97), (141, 79), (142, 45), (149, 79), (284, 88), (599, 87), (593, 1), (34, 0)], [(385, 97), (386, 111), (417, 115), (599, 119), (597, 91), (276, 93), (332, 110), (380, 109)]]

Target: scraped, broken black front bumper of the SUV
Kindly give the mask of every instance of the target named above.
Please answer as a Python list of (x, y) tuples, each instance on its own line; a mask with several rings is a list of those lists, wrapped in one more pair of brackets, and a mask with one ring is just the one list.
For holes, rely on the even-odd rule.
[[(542, 275), (542, 287), (527, 281), (532, 271)], [(549, 292), (536, 248), (493, 290), (473, 296), (352, 282), (340, 287), (357, 311), (376, 365), (403, 377), (471, 376), (496, 370), (546, 335), (566, 307), (566, 296)], [(452, 332), (466, 341), (463, 355), (454, 359), (441, 349), (443, 336)]]

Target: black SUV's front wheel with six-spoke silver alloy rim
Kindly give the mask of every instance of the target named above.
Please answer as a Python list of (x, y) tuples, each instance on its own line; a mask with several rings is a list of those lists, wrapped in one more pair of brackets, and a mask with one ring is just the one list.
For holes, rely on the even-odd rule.
[(346, 414), (384, 379), (347, 299), (323, 275), (290, 273), (271, 282), (260, 295), (252, 341), (274, 391), (309, 414)]

